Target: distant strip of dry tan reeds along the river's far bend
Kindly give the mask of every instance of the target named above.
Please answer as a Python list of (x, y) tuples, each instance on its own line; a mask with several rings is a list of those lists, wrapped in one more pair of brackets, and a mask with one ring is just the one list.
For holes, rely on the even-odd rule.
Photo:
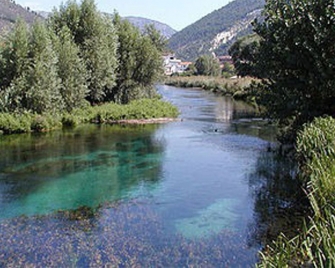
[(247, 89), (253, 80), (250, 77), (172, 76), (167, 77), (164, 83), (176, 87), (199, 87), (222, 95), (231, 95), (235, 99), (251, 101), (251, 94)]

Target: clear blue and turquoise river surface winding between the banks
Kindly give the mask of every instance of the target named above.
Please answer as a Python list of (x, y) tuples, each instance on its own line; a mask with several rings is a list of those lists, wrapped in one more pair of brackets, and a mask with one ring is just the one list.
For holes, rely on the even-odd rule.
[(255, 265), (275, 129), (229, 97), (158, 90), (180, 121), (0, 137), (1, 267)]

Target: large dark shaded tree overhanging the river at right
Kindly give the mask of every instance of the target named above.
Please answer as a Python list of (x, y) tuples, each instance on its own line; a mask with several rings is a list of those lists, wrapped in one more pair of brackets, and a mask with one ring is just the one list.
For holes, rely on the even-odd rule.
[(334, 115), (334, 9), (329, 0), (267, 1), (265, 20), (255, 25), (259, 46), (241, 42), (244, 67), (263, 79), (259, 102), (287, 130), (282, 141), (292, 142), (313, 118)]

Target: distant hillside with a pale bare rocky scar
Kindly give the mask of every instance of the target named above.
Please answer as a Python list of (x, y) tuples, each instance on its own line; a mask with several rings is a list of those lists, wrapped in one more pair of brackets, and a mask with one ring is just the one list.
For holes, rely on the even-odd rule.
[(228, 54), (236, 38), (251, 33), (251, 22), (261, 15), (264, 4), (265, 0), (235, 0), (173, 35), (169, 48), (192, 61), (211, 52)]

